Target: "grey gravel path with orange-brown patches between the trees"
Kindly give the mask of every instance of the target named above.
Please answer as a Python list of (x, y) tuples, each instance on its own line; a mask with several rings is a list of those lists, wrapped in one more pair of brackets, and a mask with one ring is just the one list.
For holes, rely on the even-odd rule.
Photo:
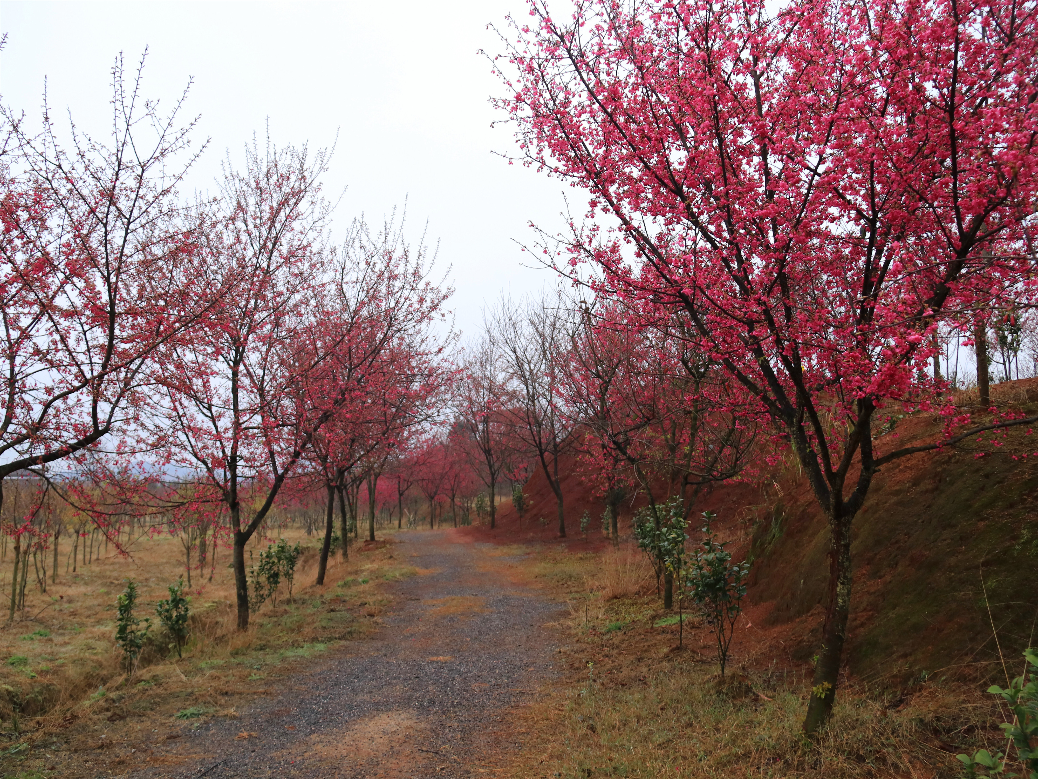
[(554, 674), (545, 623), (559, 605), (510, 577), (513, 559), (488, 556), (490, 544), (453, 531), (397, 538), (397, 557), (424, 572), (391, 586), (398, 599), (374, 639), (290, 677), (237, 720), (185, 734), (166, 753), (175, 767), (136, 776), (474, 777), (489, 754), (518, 748), (506, 709)]

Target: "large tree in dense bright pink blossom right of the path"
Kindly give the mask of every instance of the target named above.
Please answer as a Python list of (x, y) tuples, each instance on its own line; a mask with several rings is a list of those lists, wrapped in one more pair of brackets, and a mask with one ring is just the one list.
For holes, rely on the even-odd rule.
[(839, 684), (873, 476), (972, 434), (896, 449), (877, 418), (902, 404), (963, 422), (925, 370), (932, 334), (1033, 280), (1038, 8), (771, 7), (590, 0), (563, 22), (534, 0), (500, 106), (525, 160), (619, 225), (546, 250), (592, 264), (632, 308), (680, 314), (811, 482), (830, 530), (811, 734)]

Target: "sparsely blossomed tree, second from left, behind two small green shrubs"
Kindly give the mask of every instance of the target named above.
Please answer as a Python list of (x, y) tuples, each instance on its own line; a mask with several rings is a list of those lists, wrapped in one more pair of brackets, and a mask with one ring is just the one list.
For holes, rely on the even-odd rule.
[(326, 157), (247, 149), (225, 167), (221, 231), (206, 246), (202, 283), (234, 284), (204, 332), (169, 350), (165, 415), (154, 429), (169, 463), (225, 504), (233, 534), (238, 627), (248, 627), (245, 544), (313, 436), (349, 398), (343, 333), (322, 271), (329, 209)]

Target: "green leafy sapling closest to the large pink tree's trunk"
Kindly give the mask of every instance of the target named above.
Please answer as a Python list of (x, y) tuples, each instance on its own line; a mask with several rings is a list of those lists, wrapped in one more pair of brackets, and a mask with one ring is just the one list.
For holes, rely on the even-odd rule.
[(703, 543), (688, 561), (683, 588), (714, 634), (723, 678), (735, 621), (742, 613), (742, 599), (746, 595), (749, 563), (732, 564), (732, 553), (725, 548), (728, 542), (717, 541), (710, 527), (714, 518), (710, 511), (703, 513)]

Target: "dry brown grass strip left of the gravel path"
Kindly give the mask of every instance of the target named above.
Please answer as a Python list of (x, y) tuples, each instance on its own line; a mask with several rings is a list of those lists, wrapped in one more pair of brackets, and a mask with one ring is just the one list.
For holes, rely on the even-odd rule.
[[(304, 544), (291, 601), (282, 584), (276, 605), (268, 601), (252, 615), (249, 630), (238, 632), (229, 554), (221, 549), (212, 582), (208, 571), (193, 575), (183, 660), (159, 640), (141, 655), (133, 678), (121, 670), (113, 644), (115, 598), (133, 579), (138, 616), (157, 623), (156, 602), (183, 572), (177, 539), (142, 539), (130, 557), (110, 550), (75, 574), (59, 572), (46, 594), (28, 593), (24, 614), (0, 630), (0, 749), (3, 741), (32, 742), (70, 726), (62, 737), (75, 741), (92, 722), (118, 723), (131, 714), (138, 727), (140, 718), (153, 717), (164, 728), (187, 709), (199, 718), (234, 716), (241, 696), (264, 692), (336, 641), (370, 633), (388, 602), (379, 584), (415, 573), (393, 558), (391, 544), (368, 552), (355, 546), (348, 562), (330, 563), (326, 584), (318, 587), (318, 539), (295, 530), (284, 536)], [(117, 731), (118, 725), (105, 729)]]

